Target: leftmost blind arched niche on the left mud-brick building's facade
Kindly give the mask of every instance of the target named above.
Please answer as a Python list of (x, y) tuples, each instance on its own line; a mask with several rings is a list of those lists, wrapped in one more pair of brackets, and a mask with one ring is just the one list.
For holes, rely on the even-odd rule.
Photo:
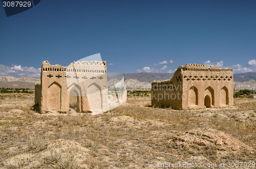
[(61, 86), (54, 81), (48, 87), (48, 108), (50, 110), (60, 110)]

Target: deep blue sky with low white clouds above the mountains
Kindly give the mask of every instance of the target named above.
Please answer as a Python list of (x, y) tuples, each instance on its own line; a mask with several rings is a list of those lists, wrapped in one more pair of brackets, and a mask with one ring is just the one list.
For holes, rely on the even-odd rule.
[(0, 74), (40, 76), (100, 53), (108, 72), (174, 72), (186, 64), (256, 72), (256, 1), (41, 0), (0, 7)]

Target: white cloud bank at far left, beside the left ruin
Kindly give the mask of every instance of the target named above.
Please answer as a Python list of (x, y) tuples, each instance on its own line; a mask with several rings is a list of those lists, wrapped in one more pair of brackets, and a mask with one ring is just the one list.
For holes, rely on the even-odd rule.
[(13, 73), (17, 73), (19, 76), (31, 76), (31, 77), (40, 77), (41, 68), (34, 67), (22, 67), (20, 65), (5, 66), (0, 65), (0, 74), (10, 75)]

